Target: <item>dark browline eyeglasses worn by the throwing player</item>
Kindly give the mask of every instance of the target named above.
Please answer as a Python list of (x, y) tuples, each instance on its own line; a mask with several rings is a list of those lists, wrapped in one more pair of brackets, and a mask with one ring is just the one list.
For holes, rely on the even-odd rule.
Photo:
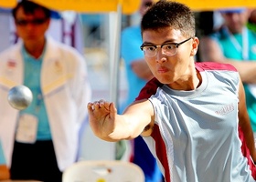
[(165, 43), (163, 45), (143, 44), (143, 45), (141, 45), (140, 48), (142, 49), (142, 51), (144, 51), (144, 56), (147, 56), (147, 57), (156, 56), (157, 48), (159, 48), (159, 47), (162, 49), (162, 53), (165, 54), (166, 56), (174, 56), (174, 55), (176, 55), (178, 46), (186, 43), (191, 38), (193, 38), (193, 37), (187, 38), (185, 41), (182, 41), (180, 43)]

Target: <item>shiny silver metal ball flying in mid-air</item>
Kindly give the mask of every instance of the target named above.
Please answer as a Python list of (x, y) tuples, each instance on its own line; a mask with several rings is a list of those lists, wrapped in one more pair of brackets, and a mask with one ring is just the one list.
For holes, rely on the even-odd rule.
[(32, 99), (32, 92), (27, 86), (14, 86), (8, 92), (8, 102), (17, 110), (27, 108), (32, 102)]

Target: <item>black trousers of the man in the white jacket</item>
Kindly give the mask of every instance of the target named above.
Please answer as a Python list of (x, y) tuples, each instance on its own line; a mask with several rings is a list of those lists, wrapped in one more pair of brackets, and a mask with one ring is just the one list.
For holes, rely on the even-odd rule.
[(61, 182), (52, 141), (35, 144), (15, 142), (11, 179), (33, 179), (44, 182)]

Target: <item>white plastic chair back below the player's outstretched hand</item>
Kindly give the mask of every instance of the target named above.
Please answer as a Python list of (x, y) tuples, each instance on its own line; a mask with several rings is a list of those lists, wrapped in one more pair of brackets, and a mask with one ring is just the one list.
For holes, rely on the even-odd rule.
[(144, 172), (121, 160), (80, 161), (63, 172), (62, 182), (144, 182)]

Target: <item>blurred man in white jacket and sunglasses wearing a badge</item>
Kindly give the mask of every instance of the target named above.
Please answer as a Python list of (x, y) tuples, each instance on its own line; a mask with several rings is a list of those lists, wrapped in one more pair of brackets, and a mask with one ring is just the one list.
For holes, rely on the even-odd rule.
[[(79, 131), (91, 99), (85, 60), (48, 37), (50, 10), (33, 1), (13, 9), (20, 41), (0, 54), (0, 137), (12, 179), (61, 182), (78, 157)], [(25, 85), (33, 101), (18, 111), (8, 90)]]

